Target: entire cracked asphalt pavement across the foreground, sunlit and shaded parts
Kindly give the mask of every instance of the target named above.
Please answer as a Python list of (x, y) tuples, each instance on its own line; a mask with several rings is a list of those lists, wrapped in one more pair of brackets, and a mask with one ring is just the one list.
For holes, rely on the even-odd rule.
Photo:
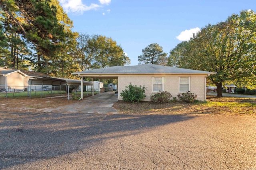
[(256, 169), (255, 117), (0, 111), (0, 169)]

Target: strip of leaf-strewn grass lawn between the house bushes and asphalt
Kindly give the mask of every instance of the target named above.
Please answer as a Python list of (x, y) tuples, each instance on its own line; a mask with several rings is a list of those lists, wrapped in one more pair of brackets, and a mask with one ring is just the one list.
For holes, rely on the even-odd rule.
[(220, 114), (256, 116), (256, 99), (207, 96), (198, 104), (132, 104), (118, 101), (114, 107), (122, 114)]

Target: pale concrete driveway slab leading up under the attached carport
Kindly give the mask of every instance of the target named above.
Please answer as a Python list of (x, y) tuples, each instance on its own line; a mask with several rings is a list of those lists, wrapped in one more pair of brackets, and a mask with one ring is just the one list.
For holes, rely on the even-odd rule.
[(46, 112), (72, 112), (72, 113), (114, 113), (118, 111), (112, 107), (118, 101), (118, 96), (114, 92), (105, 92), (96, 94), (77, 101), (74, 104), (57, 107), (54, 109), (46, 109)]

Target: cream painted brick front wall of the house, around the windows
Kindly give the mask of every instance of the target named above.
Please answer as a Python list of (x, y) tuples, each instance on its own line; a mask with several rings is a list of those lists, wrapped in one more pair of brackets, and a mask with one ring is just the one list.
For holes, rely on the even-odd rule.
[[(184, 76), (184, 75), (182, 75)], [(205, 92), (205, 76), (190, 76), (190, 91), (197, 95), (198, 100), (206, 100)], [(177, 96), (179, 93), (179, 77), (180, 76), (164, 76), (164, 91), (170, 92), (172, 96)], [(155, 94), (152, 92), (153, 76), (119, 76), (118, 77), (118, 100), (122, 100), (120, 92), (131, 82), (132, 85), (144, 85), (146, 87), (146, 98), (144, 101), (150, 101), (150, 95)]]

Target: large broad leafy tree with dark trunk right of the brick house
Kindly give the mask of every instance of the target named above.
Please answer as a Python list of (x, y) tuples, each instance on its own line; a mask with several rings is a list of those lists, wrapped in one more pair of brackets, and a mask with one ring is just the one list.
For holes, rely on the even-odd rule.
[(256, 14), (243, 10), (224, 22), (206, 25), (188, 45), (174, 48), (169, 59), (174, 58), (172, 63), (182, 68), (216, 72), (209, 78), (217, 86), (217, 97), (222, 97), (222, 85), (226, 82), (255, 88), (255, 25)]

